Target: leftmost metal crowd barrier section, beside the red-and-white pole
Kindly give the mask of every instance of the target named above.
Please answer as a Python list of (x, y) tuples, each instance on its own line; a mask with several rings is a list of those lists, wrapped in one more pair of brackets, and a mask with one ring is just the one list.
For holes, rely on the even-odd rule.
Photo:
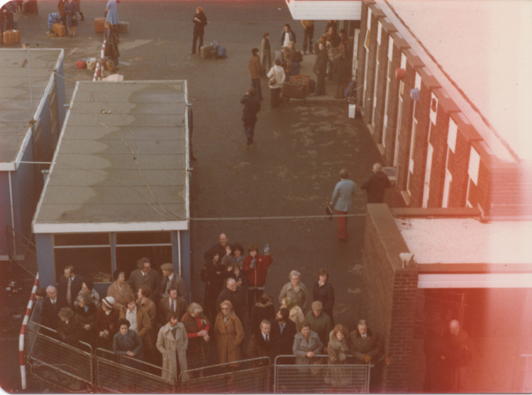
[(68, 345), (56, 332), (29, 322), (26, 327), (26, 362), (31, 374), (68, 392), (92, 390), (92, 348), (84, 342)]

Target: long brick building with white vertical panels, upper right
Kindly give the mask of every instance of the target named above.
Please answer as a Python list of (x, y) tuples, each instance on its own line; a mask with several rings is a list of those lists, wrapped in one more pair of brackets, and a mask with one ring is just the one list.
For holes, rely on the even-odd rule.
[[(362, 2), (357, 107), (385, 166), (396, 169), (406, 205), (532, 215), (524, 129), (532, 87), (523, 78), (532, 62), (524, 56), (508, 70), (505, 56), (529, 52), (507, 48), (530, 43), (511, 36), (514, 26), (519, 32), (519, 15), (532, 12), (523, 3)], [(504, 18), (494, 18), (502, 12)], [(499, 37), (501, 29), (507, 31)], [(499, 52), (489, 44), (494, 35)], [(504, 78), (494, 75), (504, 66)]]

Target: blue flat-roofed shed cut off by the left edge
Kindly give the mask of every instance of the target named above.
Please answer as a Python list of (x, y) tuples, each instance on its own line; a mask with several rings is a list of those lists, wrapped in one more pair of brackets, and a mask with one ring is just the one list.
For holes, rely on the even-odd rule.
[(31, 238), (41, 171), (65, 119), (63, 58), (62, 49), (0, 49), (0, 226), (11, 228), (0, 260), (25, 258), (17, 240)]

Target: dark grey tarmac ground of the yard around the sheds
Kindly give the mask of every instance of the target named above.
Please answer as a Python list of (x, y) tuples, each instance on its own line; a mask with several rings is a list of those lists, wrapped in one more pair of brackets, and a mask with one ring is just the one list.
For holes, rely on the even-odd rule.
[[(22, 41), (30, 48), (65, 48), (67, 101), (75, 81), (92, 80), (92, 72), (77, 69), (82, 58), (99, 57), (102, 34), (94, 33), (94, 18), (103, 16), (106, 1), (82, 0), (85, 21), (80, 21), (74, 38), (47, 38), (49, 12), (56, 1), (39, 1), (38, 15), (16, 14)], [(189, 101), (194, 108), (194, 156), (192, 172), (192, 301), (203, 302), (204, 285), (199, 271), (203, 253), (225, 232), (229, 242), (247, 247), (268, 243), (274, 259), (265, 292), (276, 308), (277, 296), (288, 281), (289, 271), (301, 272), (301, 282), (310, 289), (318, 269), (326, 268), (336, 292), (336, 323), (355, 328), (365, 316), (362, 283), (362, 241), (365, 192), (358, 190), (348, 220), (348, 241), (336, 239), (336, 222), (326, 218), (293, 219), (325, 213), (339, 180), (340, 168), (347, 168), (360, 185), (370, 175), (372, 163), (381, 161), (370, 133), (360, 117), (348, 118), (345, 99), (333, 99), (334, 85), (328, 82), (328, 96), (292, 99), (279, 109), (270, 109), (267, 80), (262, 80), (265, 99), (258, 114), (255, 144), (246, 145), (240, 97), (250, 86), (248, 60), (251, 48), (260, 47), (262, 33), (269, 31), (272, 48), (280, 45), (284, 23), (291, 23), (302, 40), (302, 27), (282, 0), (202, 1), (209, 19), (205, 43), (225, 45), (228, 58), (205, 60), (189, 55), (192, 46), (192, 1), (121, 1), (118, 16), (129, 22), (121, 33), (118, 73), (124, 80), (187, 80)], [(325, 30), (317, 21), (315, 39)], [(0, 48), (19, 48), (4, 45)], [(300, 43), (297, 43), (300, 50)], [(311, 72), (314, 56), (301, 63), (301, 74)], [(401, 205), (397, 193), (387, 191), (389, 205)], [(246, 217), (282, 217), (249, 220)], [(4, 282), (17, 276), (6, 268)], [(3, 273), (4, 274), (4, 273)], [(33, 281), (31, 281), (33, 282)], [(29, 283), (31, 283), (29, 282)], [(1, 339), (4, 358), (0, 363), (0, 385), (6, 391), (20, 391), (17, 346), (23, 314), (31, 287), (21, 281), (18, 296), (1, 295)], [(5, 292), (5, 291), (1, 291)], [(11, 295), (11, 294), (10, 294)], [(34, 387), (31, 391), (43, 391)]]

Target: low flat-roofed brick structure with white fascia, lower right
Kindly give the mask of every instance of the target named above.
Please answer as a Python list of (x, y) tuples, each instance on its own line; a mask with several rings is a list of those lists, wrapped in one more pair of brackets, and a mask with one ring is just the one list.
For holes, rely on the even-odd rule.
[[(438, 342), (429, 333), (450, 319), (472, 339), (460, 392), (530, 391), (532, 258), (522, 235), (531, 232), (531, 221), (484, 222), (472, 208), (367, 205), (363, 293), (391, 359), (383, 391), (446, 392), (426, 379), (435, 372), (423, 342)], [(401, 252), (414, 263), (403, 267)]]

